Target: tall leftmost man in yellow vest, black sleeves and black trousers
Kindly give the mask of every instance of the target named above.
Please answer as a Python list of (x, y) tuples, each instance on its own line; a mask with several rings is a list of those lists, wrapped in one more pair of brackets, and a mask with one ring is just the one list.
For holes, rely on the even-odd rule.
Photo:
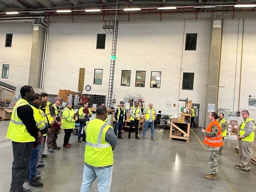
[(10, 192), (31, 192), (24, 189), (33, 142), (40, 136), (29, 101), (34, 98), (34, 89), (25, 85), (20, 89), (21, 99), (15, 104), (6, 138), (12, 141), (13, 162)]

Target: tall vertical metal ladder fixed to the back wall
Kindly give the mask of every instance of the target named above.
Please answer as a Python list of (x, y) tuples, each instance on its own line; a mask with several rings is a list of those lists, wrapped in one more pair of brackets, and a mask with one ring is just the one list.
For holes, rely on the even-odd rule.
[[(114, 32), (113, 32), (113, 41), (112, 41), (112, 54), (111, 55), (116, 55), (117, 30), (118, 30), (118, 21), (115, 21)], [(111, 104), (112, 104), (112, 95), (113, 95), (115, 61), (116, 61), (115, 59), (111, 59), (111, 63), (110, 63), (107, 108), (112, 107)]]

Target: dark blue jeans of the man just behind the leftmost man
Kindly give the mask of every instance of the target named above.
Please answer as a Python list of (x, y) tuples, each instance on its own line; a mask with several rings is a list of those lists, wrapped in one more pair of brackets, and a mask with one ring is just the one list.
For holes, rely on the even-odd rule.
[(36, 166), (37, 166), (37, 162), (40, 158), (39, 157), (40, 149), (41, 149), (41, 144), (38, 144), (36, 146), (36, 148), (32, 149), (32, 153), (30, 155), (29, 166), (28, 166), (28, 173), (27, 173), (28, 182), (31, 182), (36, 177)]

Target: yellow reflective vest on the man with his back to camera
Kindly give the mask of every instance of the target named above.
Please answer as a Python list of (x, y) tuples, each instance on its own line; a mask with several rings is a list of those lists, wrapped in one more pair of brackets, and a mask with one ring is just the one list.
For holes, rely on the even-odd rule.
[(100, 119), (93, 119), (85, 126), (86, 147), (84, 162), (94, 167), (105, 167), (113, 165), (113, 151), (108, 142), (105, 141), (107, 130), (111, 128)]

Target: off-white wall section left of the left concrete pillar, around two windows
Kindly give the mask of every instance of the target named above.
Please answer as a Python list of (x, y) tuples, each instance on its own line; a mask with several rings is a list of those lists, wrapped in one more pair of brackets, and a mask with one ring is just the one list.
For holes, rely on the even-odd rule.
[[(12, 33), (11, 47), (5, 47), (5, 35)], [(9, 64), (9, 76), (3, 81), (14, 85), (28, 83), (33, 25), (31, 22), (0, 23), (0, 73)]]

